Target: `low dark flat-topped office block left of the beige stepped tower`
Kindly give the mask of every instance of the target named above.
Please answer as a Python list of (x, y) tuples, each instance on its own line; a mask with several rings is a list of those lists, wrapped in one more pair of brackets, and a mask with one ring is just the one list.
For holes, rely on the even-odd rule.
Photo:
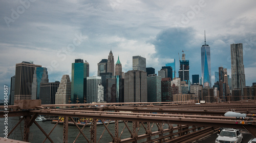
[(59, 87), (59, 81), (40, 83), (41, 104), (55, 104), (55, 94)]

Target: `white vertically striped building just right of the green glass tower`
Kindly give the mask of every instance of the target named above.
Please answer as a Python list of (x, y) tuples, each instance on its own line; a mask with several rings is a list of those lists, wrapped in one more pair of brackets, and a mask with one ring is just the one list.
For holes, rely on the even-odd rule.
[[(101, 88), (103, 88), (103, 85), (101, 84), (100, 76), (87, 77), (87, 89), (86, 89), (87, 103), (93, 103), (93, 102), (98, 102), (99, 100), (100, 101), (103, 100), (104, 90), (102, 91)], [(99, 93), (98, 93), (98, 90), (100, 90)]]

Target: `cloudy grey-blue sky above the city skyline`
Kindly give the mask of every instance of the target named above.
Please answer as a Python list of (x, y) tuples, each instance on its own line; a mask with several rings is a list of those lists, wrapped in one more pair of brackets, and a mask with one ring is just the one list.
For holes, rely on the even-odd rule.
[(88, 61), (95, 76), (97, 63), (108, 59), (111, 49), (124, 72), (132, 70), (132, 56), (141, 55), (156, 73), (171, 59), (178, 71), (178, 53), (187, 50), (191, 79), (201, 76), (206, 31), (212, 81), (220, 66), (231, 74), (230, 44), (243, 43), (246, 85), (251, 86), (256, 82), (255, 25), (256, 1), (1, 0), (0, 84), (10, 85), (15, 64), (23, 61), (47, 67), (50, 82), (71, 75), (75, 59)]

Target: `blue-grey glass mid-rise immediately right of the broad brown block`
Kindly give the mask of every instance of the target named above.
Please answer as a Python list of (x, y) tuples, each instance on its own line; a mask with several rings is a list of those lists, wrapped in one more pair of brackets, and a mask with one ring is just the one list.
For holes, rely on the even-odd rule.
[(161, 102), (161, 76), (147, 76), (147, 102)]

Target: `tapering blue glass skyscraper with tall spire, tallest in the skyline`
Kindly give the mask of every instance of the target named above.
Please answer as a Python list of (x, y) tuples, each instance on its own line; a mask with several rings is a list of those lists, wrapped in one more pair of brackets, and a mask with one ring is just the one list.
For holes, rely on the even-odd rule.
[(201, 47), (201, 66), (202, 66), (203, 87), (205, 87), (206, 84), (209, 84), (209, 87), (211, 87), (210, 47), (209, 45), (206, 45), (205, 31), (204, 31), (204, 45), (202, 45)]

